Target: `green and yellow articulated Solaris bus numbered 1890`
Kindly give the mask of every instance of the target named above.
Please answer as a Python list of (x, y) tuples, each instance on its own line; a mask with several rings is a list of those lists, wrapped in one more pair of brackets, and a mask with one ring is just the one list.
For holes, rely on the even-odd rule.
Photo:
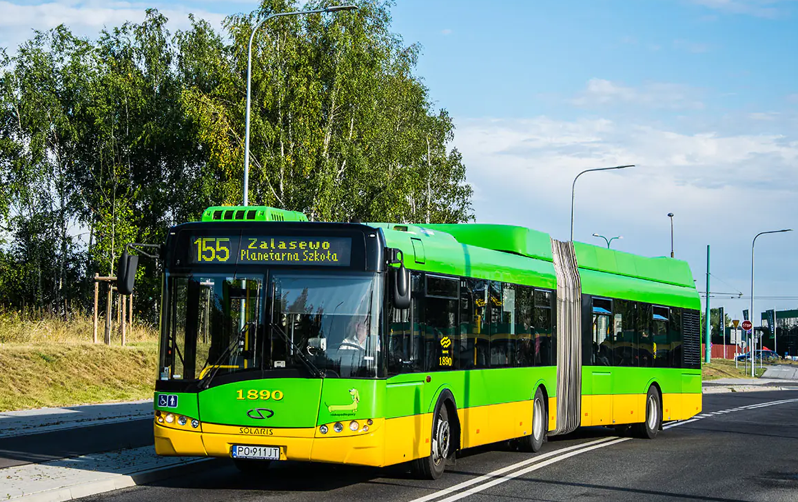
[(209, 208), (159, 259), (159, 455), (436, 479), (460, 449), (536, 452), (591, 425), (653, 438), (701, 411), (700, 300), (677, 259), (267, 207)]

